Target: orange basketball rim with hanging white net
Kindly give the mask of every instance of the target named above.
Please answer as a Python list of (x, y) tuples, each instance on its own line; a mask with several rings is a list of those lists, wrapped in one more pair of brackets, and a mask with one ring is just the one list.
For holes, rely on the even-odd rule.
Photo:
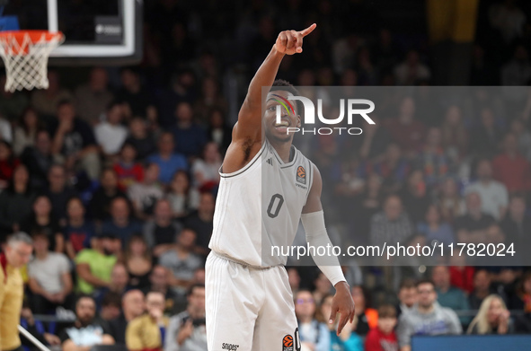
[(5, 91), (47, 89), (49, 53), (64, 40), (60, 31), (0, 31)]

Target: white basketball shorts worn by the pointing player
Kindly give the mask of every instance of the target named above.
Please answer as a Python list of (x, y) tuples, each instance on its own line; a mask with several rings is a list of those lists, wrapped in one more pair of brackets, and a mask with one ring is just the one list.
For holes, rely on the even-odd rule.
[(286, 268), (252, 268), (212, 251), (205, 270), (209, 351), (300, 349)]

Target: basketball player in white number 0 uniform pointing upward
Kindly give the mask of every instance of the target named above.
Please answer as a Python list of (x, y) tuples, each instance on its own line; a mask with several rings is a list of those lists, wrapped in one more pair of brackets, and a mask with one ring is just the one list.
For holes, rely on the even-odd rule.
[[(331, 241), (324, 227), (321, 175), (292, 145), (293, 134), (287, 133), (288, 127), (301, 125), (298, 109), (283, 109), (281, 123), (276, 121), (279, 96), (288, 99), (297, 92), (287, 82), (275, 81), (275, 76), (282, 57), (301, 53), (303, 38), (315, 26), (279, 33), (252, 78), (220, 169), (206, 265), (210, 351), (300, 348), (286, 258), (272, 256), (270, 248), (291, 245), (299, 220), (310, 245)], [(262, 93), (262, 87), (270, 89)], [(314, 257), (336, 289), (329, 322), (340, 313), (339, 335), (354, 318), (354, 303), (339, 262), (333, 259), (335, 265), (319, 265)]]

